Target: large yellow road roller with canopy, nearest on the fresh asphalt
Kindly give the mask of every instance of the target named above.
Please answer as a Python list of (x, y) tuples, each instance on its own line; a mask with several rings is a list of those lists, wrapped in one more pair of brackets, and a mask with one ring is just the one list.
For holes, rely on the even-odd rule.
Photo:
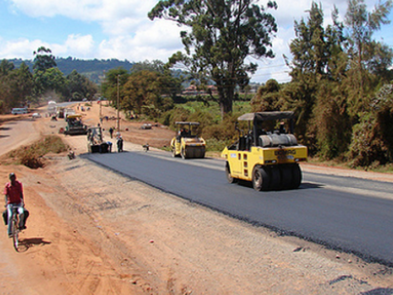
[[(294, 118), (293, 112), (240, 116), (235, 127), (239, 139), (222, 152), (228, 182), (252, 181), (258, 191), (299, 187), (302, 182), (299, 162), (307, 161), (308, 151), (293, 135)], [(239, 128), (242, 121), (248, 123), (246, 133)]]

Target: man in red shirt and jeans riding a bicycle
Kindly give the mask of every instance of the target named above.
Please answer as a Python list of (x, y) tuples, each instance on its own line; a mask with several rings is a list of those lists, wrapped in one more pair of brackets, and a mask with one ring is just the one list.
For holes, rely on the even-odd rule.
[[(5, 207), (8, 215), (8, 236), (11, 237), (12, 208), (17, 207), (19, 214), (19, 229), (26, 229), (25, 202), (23, 200), (22, 183), (16, 180), (15, 173), (9, 174), (10, 182), (5, 184)], [(27, 215), (27, 214), (26, 214)]]

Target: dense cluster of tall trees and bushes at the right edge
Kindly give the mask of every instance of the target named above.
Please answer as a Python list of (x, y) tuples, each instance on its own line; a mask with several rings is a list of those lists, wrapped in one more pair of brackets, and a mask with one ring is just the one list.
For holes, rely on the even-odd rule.
[(312, 2), (308, 16), (294, 24), (287, 59), (292, 81), (280, 87), (268, 81), (253, 109), (295, 111), (298, 140), (311, 155), (354, 166), (392, 161), (393, 52), (373, 39), (391, 8), (388, 0), (367, 12), (364, 0), (348, 0), (344, 22), (335, 7), (325, 27), (321, 4)]

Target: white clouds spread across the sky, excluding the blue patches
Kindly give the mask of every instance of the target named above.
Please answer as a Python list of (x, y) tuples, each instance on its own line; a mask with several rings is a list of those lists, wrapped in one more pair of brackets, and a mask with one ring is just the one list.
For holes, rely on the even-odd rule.
[[(285, 73), (288, 69), (283, 66), (282, 55), (285, 54), (290, 58), (289, 44), (294, 38), (294, 21), (300, 21), (302, 17), (307, 18), (307, 10), (312, 3), (312, 0), (276, 1), (278, 10), (267, 10), (274, 15), (279, 25), (279, 32), (276, 38), (272, 39), (276, 58), (258, 60), (259, 70), (253, 80), (266, 81), (274, 77), (282, 82), (288, 79)], [(98, 37), (97, 33), (93, 32), (80, 34), (77, 31), (69, 31), (65, 33), (67, 39), (60, 42), (39, 38), (0, 39), (1, 58), (32, 59), (32, 52), (40, 46), (45, 46), (51, 48), (55, 56), (61, 57), (167, 61), (174, 52), (183, 50), (179, 37), (181, 28), (170, 21), (156, 19), (152, 22), (147, 18), (147, 13), (158, 0), (7, 0), (7, 2), (12, 3), (12, 9), (16, 14), (43, 20), (62, 16), (65, 19), (86, 22), (92, 27), (97, 24), (104, 35)], [(258, 2), (265, 7), (266, 3), (267, 0)], [(370, 10), (376, 3), (376, 0), (366, 0)], [(319, 2), (317, 4), (319, 5)], [(335, 4), (341, 19), (344, 18), (347, 1), (324, 0), (322, 8), (326, 24), (331, 23), (331, 12)]]

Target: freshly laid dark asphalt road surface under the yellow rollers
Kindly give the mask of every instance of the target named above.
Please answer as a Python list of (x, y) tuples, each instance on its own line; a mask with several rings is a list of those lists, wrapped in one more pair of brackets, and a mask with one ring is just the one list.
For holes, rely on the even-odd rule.
[(124, 176), (232, 217), (393, 266), (392, 184), (303, 173), (298, 189), (257, 192), (229, 184), (224, 161), (127, 151), (84, 157)]

